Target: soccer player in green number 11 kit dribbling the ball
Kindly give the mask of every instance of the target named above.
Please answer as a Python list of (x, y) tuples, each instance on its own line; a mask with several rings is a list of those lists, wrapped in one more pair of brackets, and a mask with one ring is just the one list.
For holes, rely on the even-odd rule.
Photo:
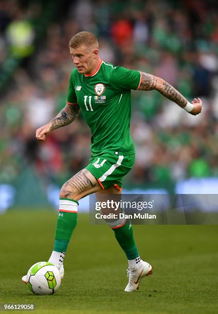
[[(36, 130), (36, 139), (44, 141), (49, 132), (72, 123), (81, 110), (92, 134), (90, 163), (60, 191), (54, 248), (49, 262), (57, 266), (62, 278), (65, 253), (77, 224), (78, 201), (91, 193), (96, 193), (97, 199), (102, 194), (121, 194), (123, 177), (133, 167), (131, 89), (155, 89), (193, 115), (202, 110), (200, 99), (189, 103), (160, 77), (101, 60), (97, 39), (90, 32), (75, 34), (69, 47), (75, 69), (70, 77), (66, 106), (48, 124)], [(110, 227), (129, 263), (129, 282), (125, 291), (134, 291), (138, 289), (140, 279), (151, 273), (152, 267), (140, 258), (128, 220), (117, 220), (110, 223)]]

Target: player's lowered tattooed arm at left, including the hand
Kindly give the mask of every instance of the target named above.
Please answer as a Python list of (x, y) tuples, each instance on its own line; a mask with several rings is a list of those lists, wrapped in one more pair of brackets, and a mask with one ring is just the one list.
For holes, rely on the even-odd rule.
[(35, 137), (37, 140), (45, 141), (46, 135), (57, 129), (61, 128), (65, 125), (70, 124), (73, 120), (76, 119), (78, 114), (80, 113), (80, 107), (78, 105), (66, 105), (62, 111), (60, 111), (54, 119), (52, 119), (46, 125), (43, 125), (41, 128), (37, 129), (35, 132)]

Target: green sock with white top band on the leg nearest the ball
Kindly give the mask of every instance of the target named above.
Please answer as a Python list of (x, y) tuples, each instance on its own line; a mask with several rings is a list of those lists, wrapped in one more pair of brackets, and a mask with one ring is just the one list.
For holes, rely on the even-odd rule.
[(60, 199), (53, 251), (66, 252), (71, 235), (77, 224), (78, 202)]

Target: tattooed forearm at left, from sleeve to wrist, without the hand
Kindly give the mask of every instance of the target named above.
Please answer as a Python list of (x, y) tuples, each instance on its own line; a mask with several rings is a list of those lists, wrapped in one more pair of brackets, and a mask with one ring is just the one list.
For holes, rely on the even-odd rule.
[(54, 119), (51, 120), (51, 131), (61, 128), (65, 125), (70, 124), (80, 113), (80, 106), (76, 105), (66, 105), (62, 111), (60, 111)]

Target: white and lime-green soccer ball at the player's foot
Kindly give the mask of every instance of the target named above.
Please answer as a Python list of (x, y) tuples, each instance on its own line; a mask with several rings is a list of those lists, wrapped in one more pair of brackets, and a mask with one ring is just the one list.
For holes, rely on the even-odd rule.
[(61, 285), (61, 275), (53, 264), (38, 262), (27, 272), (27, 284), (35, 295), (52, 295)]

